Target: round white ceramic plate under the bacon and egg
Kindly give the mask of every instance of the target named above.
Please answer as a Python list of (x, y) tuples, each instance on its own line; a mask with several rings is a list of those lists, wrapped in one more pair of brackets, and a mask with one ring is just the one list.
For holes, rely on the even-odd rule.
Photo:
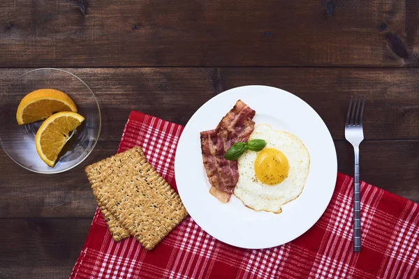
[[(200, 132), (216, 128), (239, 99), (256, 110), (256, 125), (267, 123), (292, 133), (309, 150), (310, 171), (304, 190), (282, 206), (282, 213), (253, 211), (234, 195), (222, 204), (209, 193)], [(193, 114), (177, 145), (175, 176), (186, 210), (205, 232), (237, 247), (270, 248), (307, 232), (325, 211), (337, 178), (335, 144), (321, 117), (297, 96), (270, 86), (242, 86), (215, 96)]]

